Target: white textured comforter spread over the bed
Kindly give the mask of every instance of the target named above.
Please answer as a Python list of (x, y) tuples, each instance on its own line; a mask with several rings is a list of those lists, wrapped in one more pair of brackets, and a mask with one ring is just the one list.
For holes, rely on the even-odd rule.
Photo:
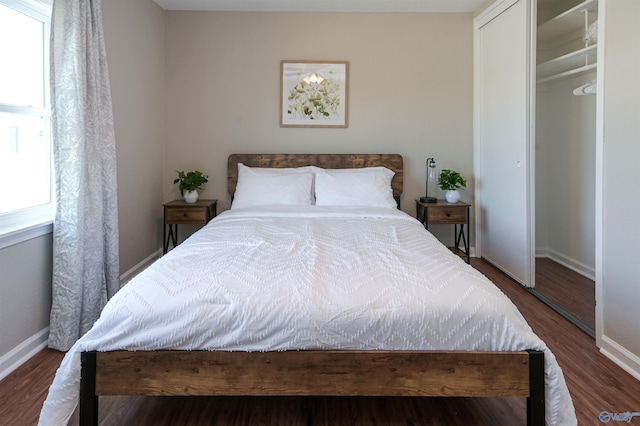
[(555, 357), (512, 302), (395, 209), (235, 209), (123, 287), (65, 356), (40, 416), (66, 424), (80, 352), (545, 351), (547, 423), (576, 424)]

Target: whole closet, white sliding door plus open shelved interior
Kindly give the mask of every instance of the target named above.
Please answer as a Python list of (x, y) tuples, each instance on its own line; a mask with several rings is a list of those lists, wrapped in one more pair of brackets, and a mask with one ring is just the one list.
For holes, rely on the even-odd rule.
[(540, 259), (595, 273), (597, 12), (496, 0), (474, 19), (476, 253), (533, 291)]

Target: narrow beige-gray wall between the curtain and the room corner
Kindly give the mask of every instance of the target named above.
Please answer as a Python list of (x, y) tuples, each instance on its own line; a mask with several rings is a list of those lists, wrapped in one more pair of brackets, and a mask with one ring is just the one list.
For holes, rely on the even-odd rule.
[(118, 158), (120, 270), (162, 241), (165, 12), (151, 0), (103, 0)]

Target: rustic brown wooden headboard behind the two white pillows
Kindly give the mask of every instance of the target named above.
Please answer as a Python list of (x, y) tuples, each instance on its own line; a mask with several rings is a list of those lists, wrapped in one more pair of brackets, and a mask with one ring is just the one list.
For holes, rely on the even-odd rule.
[(227, 164), (229, 194), (233, 197), (238, 183), (238, 163), (249, 167), (303, 167), (357, 169), (384, 166), (395, 172), (391, 180), (393, 196), (402, 195), (402, 155), (399, 154), (231, 154)]

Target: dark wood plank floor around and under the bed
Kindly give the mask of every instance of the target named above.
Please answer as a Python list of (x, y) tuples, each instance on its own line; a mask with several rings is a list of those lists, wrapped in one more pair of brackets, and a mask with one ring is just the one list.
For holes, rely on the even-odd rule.
[[(593, 339), (479, 259), (472, 265), (518, 306), (562, 367), (580, 425), (640, 411), (640, 382)], [(0, 382), (0, 425), (35, 425), (62, 354), (44, 350)], [(524, 400), (480, 398), (102, 397), (101, 425), (517, 425)], [(77, 424), (77, 413), (70, 424)], [(640, 424), (640, 417), (630, 423)]]

